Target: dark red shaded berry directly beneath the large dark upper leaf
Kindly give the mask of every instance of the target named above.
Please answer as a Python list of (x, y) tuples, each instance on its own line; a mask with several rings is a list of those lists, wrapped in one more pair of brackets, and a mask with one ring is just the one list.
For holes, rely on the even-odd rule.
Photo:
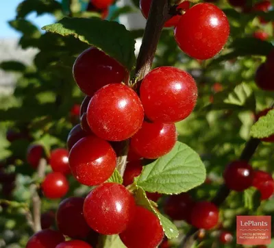
[(125, 69), (103, 51), (90, 47), (75, 60), (73, 76), (82, 92), (92, 97), (107, 84), (120, 84), (125, 77)]

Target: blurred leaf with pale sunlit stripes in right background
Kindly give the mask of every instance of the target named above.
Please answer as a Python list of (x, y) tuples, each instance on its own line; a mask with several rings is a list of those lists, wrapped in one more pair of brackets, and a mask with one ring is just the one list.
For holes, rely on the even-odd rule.
[(256, 110), (256, 99), (253, 90), (245, 83), (235, 88), (227, 88), (214, 95), (212, 104), (206, 110)]

